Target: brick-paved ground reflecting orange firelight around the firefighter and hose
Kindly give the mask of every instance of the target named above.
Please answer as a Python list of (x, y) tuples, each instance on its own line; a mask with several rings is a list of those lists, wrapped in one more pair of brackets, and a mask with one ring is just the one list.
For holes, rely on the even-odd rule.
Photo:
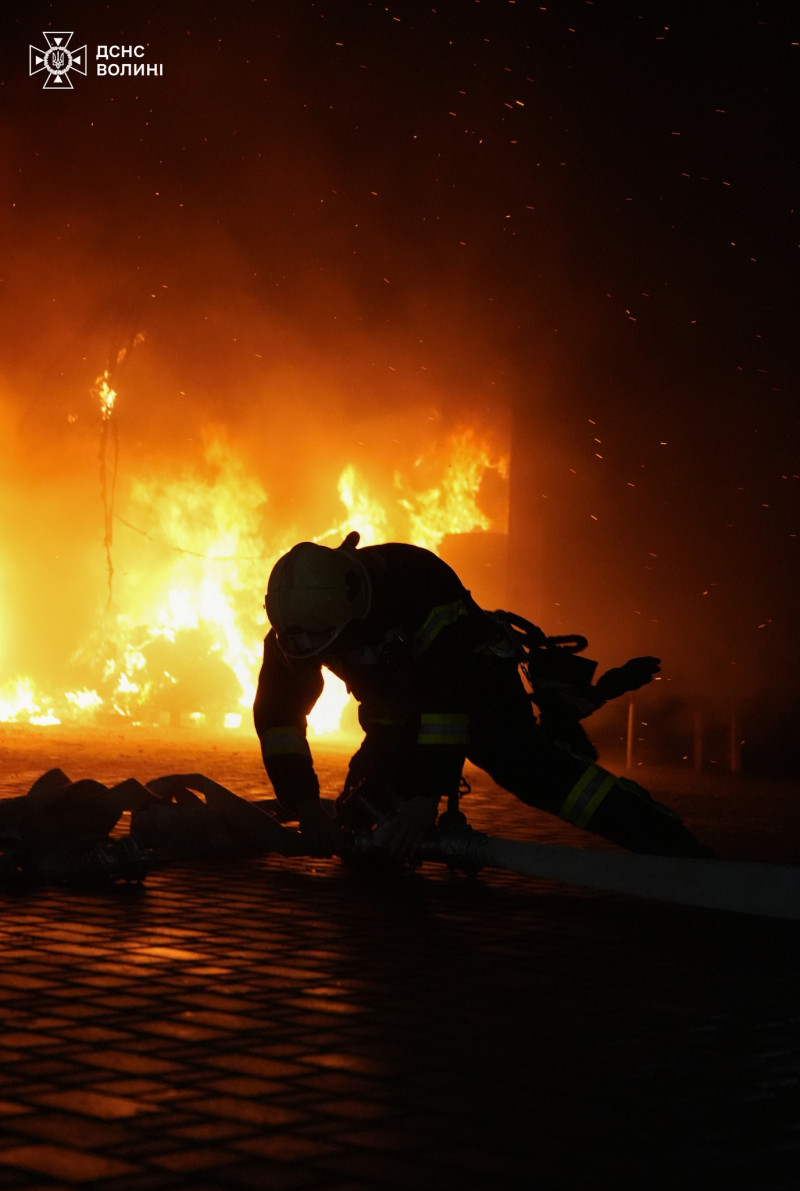
[[(0, 747), (0, 796), (52, 765), (263, 793), (248, 738)], [(796, 790), (644, 777), (723, 854), (800, 861)], [(465, 806), (592, 843), (480, 779)], [(794, 923), (277, 859), (0, 908), (0, 1187), (800, 1186)]]

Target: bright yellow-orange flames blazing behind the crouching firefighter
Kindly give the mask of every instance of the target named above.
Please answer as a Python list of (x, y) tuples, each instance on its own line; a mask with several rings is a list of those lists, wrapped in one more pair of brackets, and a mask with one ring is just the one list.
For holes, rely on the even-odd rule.
[[(106, 372), (93, 391), (104, 424), (117, 393)], [(474, 429), (440, 436), (406, 472), (380, 484), (343, 461), (342, 517), (305, 532), (270, 520), (269, 494), (221, 434), (210, 435), (195, 466), (161, 464), (129, 479), (112, 509), (117, 532), (110, 599), (71, 661), (69, 690), (40, 690), (25, 676), (0, 687), (0, 722), (246, 727), (263, 635), (265, 578), (295, 541), (336, 542), (357, 530), (363, 545), (407, 541), (438, 550), (443, 538), (505, 526), (480, 505), (487, 472), (505, 476)], [(118, 511), (121, 507), (121, 512)], [(112, 578), (113, 576), (113, 578)], [(349, 696), (326, 674), (310, 717), (313, 735), (340, 730)]]

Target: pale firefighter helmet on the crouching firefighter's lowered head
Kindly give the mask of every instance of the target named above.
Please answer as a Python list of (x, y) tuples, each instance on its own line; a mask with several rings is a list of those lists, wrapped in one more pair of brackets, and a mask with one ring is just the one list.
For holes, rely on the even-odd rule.
[(288, 657), (313, 657), (368, 615), (371, 585), (357, 544), (357, 534), (337, 549), (299, 542), (273, 567), (264, 603)]

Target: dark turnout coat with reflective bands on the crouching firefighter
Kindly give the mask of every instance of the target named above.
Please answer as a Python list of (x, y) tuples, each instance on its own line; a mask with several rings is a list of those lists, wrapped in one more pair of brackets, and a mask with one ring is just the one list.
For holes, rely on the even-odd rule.
[(358, 703), (364, 742), (350, 784), (379, 780), (400, 798), (438, 799), (458, 786), (469, 742), (471, 671), (493, 623), (456, 573), (430, 550), (401, 543), (363, 547), (371, 603), (313, 657), (287, 657), (274, 631), (254, 706), (267, 774), (287, 811), (319, 796), (306, 738), (323, 691), (323, 666)]

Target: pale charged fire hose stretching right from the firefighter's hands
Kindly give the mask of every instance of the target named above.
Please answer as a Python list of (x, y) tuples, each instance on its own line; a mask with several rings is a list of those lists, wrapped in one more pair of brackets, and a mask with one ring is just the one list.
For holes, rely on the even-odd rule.
[[(739, 860), (695, 860), (599, 852), (485, 835), (463, 815), (439, 819), (423, 844), (423, 860), (476, 873), (505, 868), (525, 877), (708, 910), (800, 919), (800, 867)], [(381, 829), (354, 833), (344, 859), (380, 858)]]

